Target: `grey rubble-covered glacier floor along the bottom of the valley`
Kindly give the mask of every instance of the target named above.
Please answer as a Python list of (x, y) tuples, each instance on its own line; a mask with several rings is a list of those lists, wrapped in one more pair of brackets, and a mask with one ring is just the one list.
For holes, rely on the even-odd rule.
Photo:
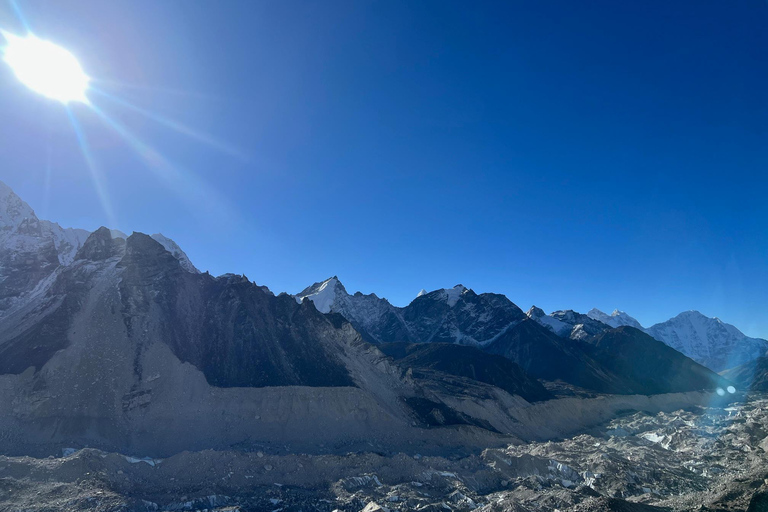
[(65, 450), (0, 457), (3, 511), (704, 510), (768, 505), (768, 397), (655, 415), (471, 456)]

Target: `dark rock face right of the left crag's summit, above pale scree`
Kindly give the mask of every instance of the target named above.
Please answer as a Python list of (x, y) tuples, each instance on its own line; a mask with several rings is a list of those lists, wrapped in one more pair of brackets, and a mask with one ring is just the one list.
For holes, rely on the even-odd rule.
[(199, 300), (189, 338), (180, 337), (175, 327), (178, 309), (169, 316), (166, 332), (177, 357), (200, 368), (211, 385), (354, 386), (332, 348), (320, 342), (344, 334), (311, 306), (270, 296), (250, 283), (209, 281)]

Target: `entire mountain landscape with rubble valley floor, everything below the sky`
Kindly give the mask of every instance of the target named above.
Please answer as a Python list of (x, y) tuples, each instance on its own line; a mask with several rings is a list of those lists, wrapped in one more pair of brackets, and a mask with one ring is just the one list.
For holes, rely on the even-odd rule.
[[(765, 340), (700, 314), (670, 322), (715, 321), (706, 343), (676, 347), (683, 327), (463, 285), (405, 307), (337, 277), (275, 295), (161, 234), (39, 220), (2, 183), (0, 290), (3, 510), (693, 510), (768, 492)], [(741, 365), (723, 374), (683, 350), (723, 336), (704, 360)]]

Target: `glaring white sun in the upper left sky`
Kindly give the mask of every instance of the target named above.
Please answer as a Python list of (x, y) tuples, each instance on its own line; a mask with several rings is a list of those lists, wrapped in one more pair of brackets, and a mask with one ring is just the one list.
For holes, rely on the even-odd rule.
[(3, 48), (3, 59), (21, 83), (64, 104), (88, 103), (86, 91), (90, 78), (74, 55), (32, 34), (20, 37), (0, 32), (7, 43)]

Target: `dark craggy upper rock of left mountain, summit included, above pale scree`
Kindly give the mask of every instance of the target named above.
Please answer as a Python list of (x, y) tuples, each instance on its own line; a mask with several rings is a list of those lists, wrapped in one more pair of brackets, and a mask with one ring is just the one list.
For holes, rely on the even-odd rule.
[[(67, 268), (49, 292), (51, 314), (0, 344), (0, 374), (40, 369), (65, 349), (72, 319), (98, 279), (90, 273), (92, 264), (120, 258), (121, 313), (127, 335), (137, 343), (137, 361), (159, 329), (173, 353), (202, 370), (214, 386), (354, 385), (333, 349), (320, 341), (348, 334), (311, 305), (274, 297), (247, 280), (185, 272), (141, 233), (125, 241), (101, 228), (77, 257), (79, 263)], [(140, 379), (140, 364), (135, 371)]]

